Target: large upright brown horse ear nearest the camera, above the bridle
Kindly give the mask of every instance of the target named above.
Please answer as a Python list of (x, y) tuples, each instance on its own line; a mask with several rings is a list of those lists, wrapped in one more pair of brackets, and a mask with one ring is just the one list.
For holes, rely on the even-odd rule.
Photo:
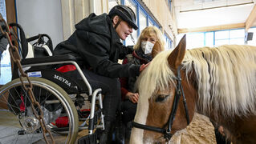
[(181, 38), (178, 46), (172, 51), (169, 55), (168, 62), (169, 66), (173, 70), (177, 70), (177, 67), (181, 65), (181, 62), (185, 56), (185, 48), (186, 48), (186, 35)]

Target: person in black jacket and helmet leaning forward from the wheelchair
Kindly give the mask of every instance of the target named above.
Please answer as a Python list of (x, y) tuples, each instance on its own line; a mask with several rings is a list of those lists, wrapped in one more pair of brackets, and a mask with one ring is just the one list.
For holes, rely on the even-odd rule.
[[(55, 47), (54, 55), (71, 54), (86, 75), (92, 89), (101, 88), (104, 94), (105, 130), (100, 143), (111, 142), (111, 127), (116, 119), (120, 103), (120, 77), (136, 77), (146, 65), (117, 61), (132, 54), (131, 46), (124, 46), (125, 40), (137, 30), (136, 15), (128, 6), (114, 6), (109, 14), (90, 14), (75, 25), (75, 32), (66, 41)], [(76, 74), (71, 74), (71, 78)]]

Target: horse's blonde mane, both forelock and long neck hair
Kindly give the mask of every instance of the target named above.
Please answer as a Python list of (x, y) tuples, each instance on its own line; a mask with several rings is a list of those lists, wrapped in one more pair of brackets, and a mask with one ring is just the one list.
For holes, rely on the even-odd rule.
[[(137, 81), (140, 96), (169, 88), (175, 75), (167, 58), (171, 51), (157, 54)], [(186, 50), (182, 62), (186, 75), (194, 71), (198, 86), (197, 110), (223, 116), (256, 114), (256, 47), (226, 45)], [(141, 98), (141, 97), (140, 97)], [(213, 111), (214, 110), (214, 111)]]

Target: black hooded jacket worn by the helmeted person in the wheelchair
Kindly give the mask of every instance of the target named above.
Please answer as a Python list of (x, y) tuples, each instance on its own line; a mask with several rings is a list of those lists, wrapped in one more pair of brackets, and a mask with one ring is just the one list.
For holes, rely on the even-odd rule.
[(140, 65), (120, 65), (118, 59), (132, 53), (132, 47), (120, 42), (108, 14), (90, 14), (75, 25), (75, 32), (67, 41), (59, 43), (55, 55), (71, 54), (80, 66), (92, 68), (96, 74), (111, 78), (136, 76)]

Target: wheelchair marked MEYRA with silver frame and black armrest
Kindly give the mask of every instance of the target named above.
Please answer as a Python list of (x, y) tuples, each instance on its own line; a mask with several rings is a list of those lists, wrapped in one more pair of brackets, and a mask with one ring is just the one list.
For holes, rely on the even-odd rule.
[[(10, 27), (12, 41), (19, 47), (22, 69), (30, 82), (25, 78), (21, 82), (18, 67), (14, 66), (12, 81), (0, 88), (0, 131), (6, 130), (0, 132), (0, 143), (46, 143), (45, 139), (51, 141), (51, 135), (55, 143), (97, 143), (95, 130), (104, 130), (101, 89), (91, 89), (73, 56), (52, 56), (52, 42), (47, 34), (26, 39), (17, 23), (10, 23)], [(71, 72), (81, 79), (71, 78)], [(45, 137), (33, 114), (33, 101), (22, 87), (30, 83), (39, 102), (35, 111), (43, 115), (47, 130), (51, 131)], [(78, 135), (86, 136), (77, 138)]]

